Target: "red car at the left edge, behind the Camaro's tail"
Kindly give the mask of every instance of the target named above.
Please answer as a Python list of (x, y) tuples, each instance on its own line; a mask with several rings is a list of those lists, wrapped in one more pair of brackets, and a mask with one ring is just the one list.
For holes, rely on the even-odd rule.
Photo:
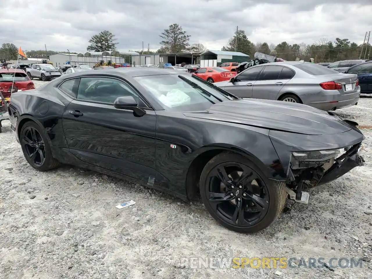
[(29, 89), (35, 89), (35, 85), (25, 71), (20, 69), (0, 70), (0, 92), (4, 98), (10, 98), (10, 95), (14, 92)]

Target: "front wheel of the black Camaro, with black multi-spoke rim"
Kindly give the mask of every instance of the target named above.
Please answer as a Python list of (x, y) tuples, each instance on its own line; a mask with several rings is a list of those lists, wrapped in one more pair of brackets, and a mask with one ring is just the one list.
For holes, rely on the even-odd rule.
[[(243, 185), (244, 183), (240, 183), (239, 186), (235, 185), (235, 189), (231, 190), (232, 192), (236, 191), (234, 194), (232, 192), (229, 193), (229, 192), (224, 192), (224, 191), (221, 191), (222, 193), (215, 193), (214, 190), (212, 192), (209, 192), (211, 186), (222, 187), (221, 185), (223, 185), (223, 183), (221, 183), (222, 181), (221, 179), (217, 179), (217, 185), (215, 184), (212, 185), (214, 179), (211, 179), (211, 177), (217, 178), (217, 176), (214, 176), (216, 168), (218, 168), (222, 164), (231, 165), (231, 166), (227, 166), (227, 168), (232, 168), (232, 165), (235, 163), (238, 164), (239, 166), (242, 166), (242, 167), (244, 166), (242, 169), (243, 172), (241, 173), (240, 177), (238, 177), (237, 179), (233, 179), (232, 173), (229, 174), (227, 169), (224, 169), (226, 171), (225, 174), (227, 174), (228, 176), (229, 175), (231, 176), (231, 177), (228, 177), (228, 180), (230, 183), (235, 183), (235, 181), (231, 181), (231, 180), (249, 181), (250, 180), (249, 178), (252, 178), (252, 177), (257, 177), (257, 178), (251, 180), (248, 186)], [(245, 170), (249, 170), (250, 174), (246, 176), (247, 179), (241, 179), (243, 174), (245, 173)], [(235, 171), (235, 173), (237, 172)], [(252, 182), (256, 183), (257, 186), (254, 185)], [(239, 199), (238, 193), (237, 193), (239, 189), (237, 187), (240, 188), (241, 187), (240, 185), (243, 185), (243, 189), (239, 193), (241, 197)], [(265, 185), (265, 187), (262, 188), (264, 190), (260, 188), (262, 185)], [(258, 192), (259, 192), (258, 194), (255, 194), (247, 189), (248, 187), (251, 187), (251, 189), (253, 189), (253, 186), (258, 189)], [(286, 202), (285, 186), (286, 185), (284, 182), (277, 182), (277, 181), (267, 179), (267, 177), (264, 176), (263, 172), (248, 158), (243, 157), (242, 155), (239, 155), (236, 153), (230, 153), (230, 152), (224, 152), (212, 158), (205, 165), (202, 171), (202, 174), (201, 174), (201, 178), (200, 178), (200, 194), (201, 194), (202, 201), (206, 209), (208, 210), (208, 212), (212, 215), (214, 219), (216, 219), (224, 227), (230, 230), (233, 230), (233, 231), (243, 232), (243, 233), (252, 233), (252, 232), (258, 232), (260, 230), (263, 230), (264, 228), (267, 228), (270, 224), (272, 224), (272, 222), (274, 222), (276, 218), (278, 218)], [(212, 196), (210, 195), (211, 193), (213, 193)], [(246, 194), (246, 193), (249, 193), (249, 194)], [(222, 196), (218, 196), (217, 199), (212, 199), (214, 197), (217, 197), (217, 195), (222, 195)], [(245, 196), (245, 198), (243, 196)], [(261, 196), (263, 196), (263, 198), (261, 198)], [(259, 208), (259, 206), (257, 206), (259, 205), (259, 203), (255, 202), (256, 199), (257, 201), (259, 201), (259, 203), (262, 202), (261, 204), (264, 205), (262, 208)], [(216, 205), (216, 201), (217, 201), (217, 205)], [(241, 201), (241, 202), (238, 202), (238, 201)], [(248, 203), (250, 204), (249, 206), (248, 206)], [(240, 204), (240, 206), (238, 206), (238, 204)], [(231, 220), (227, 217), (224, 210), (221, 211), (221, 209), (219, 208), (219, 205), (222, 205), (222, 206), (226, 205), (228, 206), (228, 208), (231, 207), (230, 211), (231, 212), (234, 211), (234, 214), (231, 215)], [(241, 208), (243, 208), (243, 210)], [(254, 208), (259, 208), (259, 212), (252, 211), (252, 209)], [(243, 216), (242, 220), (240, 219), (240, 212), (243, 212), (243, 214), (241, 214)], [(257, 214), (257, 215), (254, 215), (254, 214)], [(248, 217), (246, 218), (246, 215), (253, 216), (253, 218), (248, 218)], [(255, 217), (256, 219), (254, 219)], [(249, 221), (247, 221), (247, 219)], [(244, 225), (238, 225), (239, 222)]]

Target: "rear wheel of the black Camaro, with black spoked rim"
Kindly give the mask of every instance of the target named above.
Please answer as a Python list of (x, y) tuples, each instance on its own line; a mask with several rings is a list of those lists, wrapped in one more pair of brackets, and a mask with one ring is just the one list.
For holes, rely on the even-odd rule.
[[(32, 135), (32, 131), (36, 131), (34, 133), (35, 138)], [(19, 141), (23, 155), (25, 155), (31, 167), (39, 171), (51, 170), (59, 165), (58, 160), (52, 157), (47, 138), (48, 135), (45, 129), (33, 121), (28, 121), (22, 126)], [(33, 154), (35, 157), (32, 156)], [(44, 161), (41, 154), (44, 157)]]

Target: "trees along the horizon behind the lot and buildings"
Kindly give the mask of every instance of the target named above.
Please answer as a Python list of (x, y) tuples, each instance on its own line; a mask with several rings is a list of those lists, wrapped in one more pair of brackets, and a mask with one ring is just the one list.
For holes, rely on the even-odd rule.
[[(161, 53), (178, 53), (178, 52), (203, 52), (206, 48), (202, 44), (190, 44), (191, 35), (188, 35), (183, 30), (182, 26), (174, 23), (159, 35), (161, 47), (157, 51), (151, 51), (150, 45), (147, 49), (134, 50), (140, 54), (161, 54)], [(108, 30), (104, 30), (97, 35), (93, 35), (89, 39), (87, 51), (102, 52), (116, 50), (118, 42), (115, 35)], [(267, 42), (251, 42), (244, 30), (238, 30), (228, 40), (227, 44), (222, 47), (222, 51), (238, 51), (248, 54), (251, 58), (254, 57), (256, 51), (264, 54), (273, 55), (283, 58), (284, 60), (305, 60), (314, 58), (316, 63), (319, 62), (334, 62), (346, 59), (357, 59), (372, 57), (371, 44), (358, 45), (355, 42), (350, 42), (349, 39), (336, 38), (334, 41), (327, 38), (320, 38), (313, 44), (298, 44), (290, 45), (287, 42), (281, 42), (278, 45), (268, 44)], [(133, 50), (132, 50), (133, 51)], [(17, 47), (12, 43), (5, 43), (0, 48), (0, 58), (6, 60), (17, 59)], [(28, 57), (46, 58), (49, 55), (58, 53), (57, 51), (31, 50), (24, 51)], [(68, 53), (59, 51), (59, 53)], [(76, 52), (70, 52), (76, 54)], [(121, 55), (123, 56), (123, 55)]]

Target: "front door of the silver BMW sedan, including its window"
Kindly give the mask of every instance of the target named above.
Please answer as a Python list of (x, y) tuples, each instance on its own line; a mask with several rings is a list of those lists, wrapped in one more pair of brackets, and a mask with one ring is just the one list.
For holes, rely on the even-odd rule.
[(225, 90), (241, 98), (251, 98), (253, 85), (256, 82), (257, 76), (262, 71), (263, 66), (248, 68), (234, 77), (233, 82), (229, 82), (225, 86)]

